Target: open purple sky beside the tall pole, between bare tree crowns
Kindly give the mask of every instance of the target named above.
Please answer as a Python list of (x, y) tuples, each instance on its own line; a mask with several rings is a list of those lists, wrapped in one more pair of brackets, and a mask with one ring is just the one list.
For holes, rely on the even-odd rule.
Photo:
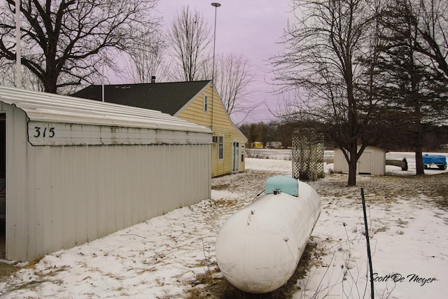
[[(215, 8), (211, 6), (212, 2), (221, 4), (216, 12), (216, 54), (242, 53), (256, 74), (248, 99), (258, 106), (244, 122), (268, 122), (272, 115), (265, 103), (275, 110), (279, 96), (272, 95), (272, 85), (265, 83), (269, 81), (269, 72), (272, 70), (267, 60), (283, 48), (278, 42), (281, 40), (283, 29), (287, 27), (289, 1), (160, 0), (158, 11), (163, 16), (165, 27), (168, 27), (182, 6), (188, 5), (193, 11), (202, 13), (213, 27)], [(232, 118), (235, 123), (240, 121), (236, 117)]]

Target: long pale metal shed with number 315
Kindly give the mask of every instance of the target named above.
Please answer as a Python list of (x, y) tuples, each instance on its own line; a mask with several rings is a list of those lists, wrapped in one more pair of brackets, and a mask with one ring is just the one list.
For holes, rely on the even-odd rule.
[(166, 113), (0, 87), (0, 128), (0, 258), (33, 260), (210, 197), (211, 130)]

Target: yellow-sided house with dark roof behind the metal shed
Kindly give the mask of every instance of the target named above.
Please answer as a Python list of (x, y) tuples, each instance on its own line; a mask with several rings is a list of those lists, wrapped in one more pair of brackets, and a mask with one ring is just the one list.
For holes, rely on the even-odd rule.
[[(102, 101), (102, 85), (72, 95)], [(211, 81), (104, 85), (104, 102), (158, 110), (213, 131), (211, 176), (244, 171), (247, 138), (232, 123)]]

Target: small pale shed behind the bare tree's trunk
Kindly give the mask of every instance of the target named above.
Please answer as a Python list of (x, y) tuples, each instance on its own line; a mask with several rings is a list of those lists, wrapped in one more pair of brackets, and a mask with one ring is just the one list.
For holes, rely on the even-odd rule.
[[(349, 173), (349, 164), (344, 153), (339, 148), (335, 148), (334, 172)], [(358, 159), (356, 165), (357, 174), (373, 174), (384, 176), (386, 172), (386, 151), (374, 146), (367, 146), (363, 154)]]

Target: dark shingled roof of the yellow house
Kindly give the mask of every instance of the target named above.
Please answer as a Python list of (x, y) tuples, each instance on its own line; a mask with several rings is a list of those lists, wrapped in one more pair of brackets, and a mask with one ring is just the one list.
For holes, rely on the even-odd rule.
[[(104, 102), (162, 111), (174, 115), (210, 81), (104, 85)], [(102, 100), (102, 85), (90, 85), (73, 97)]]

